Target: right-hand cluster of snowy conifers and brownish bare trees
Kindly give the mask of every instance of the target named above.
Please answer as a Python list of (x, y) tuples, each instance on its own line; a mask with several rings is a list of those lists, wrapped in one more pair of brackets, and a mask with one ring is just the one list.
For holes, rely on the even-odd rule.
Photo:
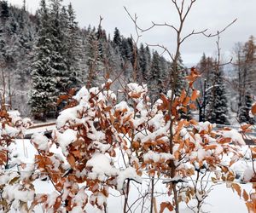
[[(201, 120), (216, 124), (230, 124), (229, 113), (236, 114), (237, 122), (254, 124), (250, 109), (255, 100), (255, 38), (245, 43), (236, 43), (232, 62), (222, 65), (214, 57), (202, 55), (197, 67), (202, 78), (197, 83), (202, 98), (199, 109)], [(227, 74), (225, 71), (230, 70)]]

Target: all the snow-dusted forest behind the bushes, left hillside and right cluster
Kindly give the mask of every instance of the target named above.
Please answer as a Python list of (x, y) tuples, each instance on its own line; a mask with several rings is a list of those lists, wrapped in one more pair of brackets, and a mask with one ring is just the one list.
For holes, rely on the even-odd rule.
[[(172, 63), (164, 56), (143, 43), (137, 46), (118, 28), (112, 37), (101, 23), (80, 28), (72, 4), (42, 0), (36, 14), (30, 14), (25, 6), (18, 9), (1, 1), (0, 11), (1, 103), (24, 116), (55, 118), (65, 106), (56, 104), (60, 95), (108, 78), (147, 83), (153, 101), (170, 85)], [(256, 89), (254, 37), (234, 44), (234, 49), (229, 66), (220, 66), (217, 57), (205, 54), (195, 64), (202, 75), (196, 83), (203, 94), (197, 103), (201, 121), (231, 124), (237, 117), (239, 122), (254, 122), (248, 115)], [(184, 77), (190, 68), (183, 65), (182, 55), (178, 63), (177, 94), (186, 87)], [(114, 90), (119, 89), (120, 83), (115, 83)], [(123, 99), (120, 93), (119, 100)], [(185, 117), (191, 117), (189, 112)]]

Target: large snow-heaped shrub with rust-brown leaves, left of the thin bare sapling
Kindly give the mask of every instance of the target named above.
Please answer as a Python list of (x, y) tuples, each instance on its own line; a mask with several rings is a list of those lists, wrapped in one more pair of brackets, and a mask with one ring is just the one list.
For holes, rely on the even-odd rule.
[[(88, 202), (103, 209), (107, 206), (109, 187), (122, 193), (126, 179), (142, 181), (137, 175), (138, 170), (128, 160), (123, 166), (115, 164), (117, 153), (131, 147), (125, 137), (131, 136), (132, 124), (127, 124), (127, 120), (133, 118), (134, 112), (126, 102), (116, 104), (116, 95), (109, 89), (110, 84), (109, 80), (101, 88), (80, 89), (73, 96), (78, 105), (61, 112), (51, 141), (44, 135), (32, 137), (39, 151), (36, 168), (49, 174), (60, 193), (55, 197), (55, 203), (44, 205), (45, 210), (84, 210)], [(143, 96), (142, 87), (136, 83), (132, 85), (140, 90), (130, 89), (130, 95), (136, 99)], [(137, 125), (145, 118), (137, 120)], [(47, 145), (52, 142), (61, 147), (62, 158), (49, 152)], [(44, 194), (34, 204), (43, 203), (45, 199), (42, 198), (48, 200), (52, 196)]]

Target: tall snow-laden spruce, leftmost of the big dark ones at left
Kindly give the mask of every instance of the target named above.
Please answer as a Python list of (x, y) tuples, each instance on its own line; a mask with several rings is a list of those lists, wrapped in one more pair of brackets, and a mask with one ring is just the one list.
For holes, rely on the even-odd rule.
[(35, 118), (46, 118), (49, 111), (55, 111), (56, 79), (52, 67), (53, 44), (50, 39), (49, 11), (45, 0), (41, 0), (38, 27), (38, 41), (32, 64), (32, 89), (30, 105)]

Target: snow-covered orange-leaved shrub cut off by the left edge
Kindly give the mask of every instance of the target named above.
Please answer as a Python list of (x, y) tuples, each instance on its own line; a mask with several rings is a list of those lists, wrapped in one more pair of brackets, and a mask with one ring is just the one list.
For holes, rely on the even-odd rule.
[(22, 164), (15, 158), (12, 145), (15, 138), (22, 136), (31, 124), (29, 119), (21, 119), (19, 113), (0, 110), (0, 210), (3, 212), (11, 208), (26, 212), (28, 202), (33, 200), (34, 189), (30, 181), (33, 168), (24, 165), (20, 168), (20, 174), (12, 172), (12, 169)]

